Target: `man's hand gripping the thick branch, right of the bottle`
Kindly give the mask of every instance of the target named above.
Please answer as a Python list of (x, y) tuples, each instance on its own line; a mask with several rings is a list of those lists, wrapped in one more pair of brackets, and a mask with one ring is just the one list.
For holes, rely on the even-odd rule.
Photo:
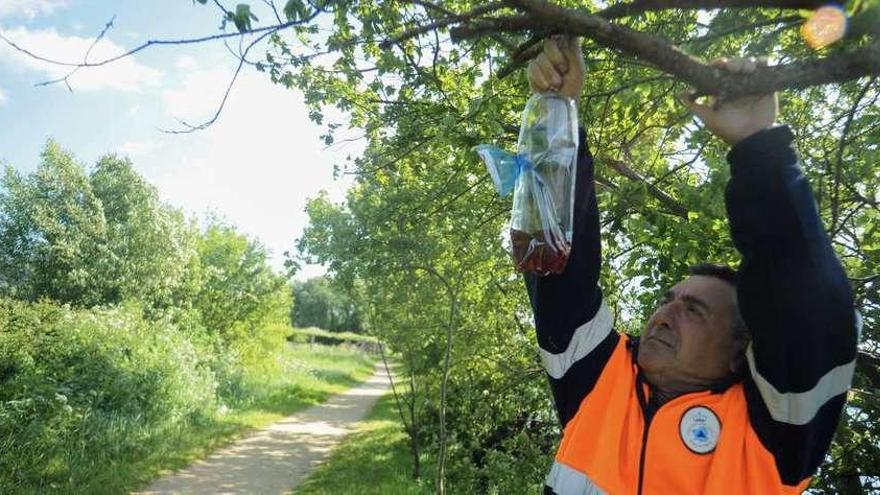
[[(766, 60), (719, 59), (712, 62), (713, 67), (722, 70), (749, 74), (755, 68), (766, 66)], [(682, 100), (712, 133), (731, 146), (764, 129), (773, 127), (776, 122), (778, 103), (776, 93), (747, 96), (729, 101), (714, 101), (709, 105), (697, 103), (691, 95)]]

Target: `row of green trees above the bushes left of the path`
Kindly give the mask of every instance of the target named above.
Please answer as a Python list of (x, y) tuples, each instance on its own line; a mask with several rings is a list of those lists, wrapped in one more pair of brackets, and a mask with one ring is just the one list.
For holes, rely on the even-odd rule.
[(107, 155), (87, 172), (53, 141), (35, 171), (7, 166), (0, 181), (0, 297), (137, 301), (194, 312), (219, 336), (284, 321), (292, 306), (259, 242), (217, 219), (199, 229), (126, 158)]

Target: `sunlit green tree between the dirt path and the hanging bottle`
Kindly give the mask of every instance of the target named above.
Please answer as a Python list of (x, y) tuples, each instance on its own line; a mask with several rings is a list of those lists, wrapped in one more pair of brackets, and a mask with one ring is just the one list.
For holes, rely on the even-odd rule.
[[(366, 308), (368, 331), (400, 354), (409, 377), (399, 399), (414, 466), (419, 446), (434, 446), (441, 459), (438, 490), (447, 470), (453, 479), (476, 477), (487, 488), (513, 471), (533, 472), (525, 486), (537, 490), (544, 467), (538, 446), (549, 449), (555, 426), (548, 420), (543, 382), (523, 379), (540, 376), (528, 329), (516, 316), (524, 294), (509, 272), (497, 230), (488, 242), (473, 235), (507, 210), (420, 205), (436, 192), (420, 187), (436, 184), (424, 182), (420, 158), (427, 157), (401, 163), (399, 175), (362, 181), (349, 194), (348, 208), (326, 197), (312, 200), (300, 250), (308, 261), (329, 261), (340, 280), (362, 282), (356, 294)], [(453, 170), (468, 158), (455, 160)], [(460, 180), (461, 186), (475, 180), (450, 174), (444, 179)], [(390, 187), (382, 187), (385, 181)], [(499, 290), (513, 298), (496, 299)], [(511, 435), (526, 447), (513, 449)], [(490, 458), (509, 470), (497, 472)]]

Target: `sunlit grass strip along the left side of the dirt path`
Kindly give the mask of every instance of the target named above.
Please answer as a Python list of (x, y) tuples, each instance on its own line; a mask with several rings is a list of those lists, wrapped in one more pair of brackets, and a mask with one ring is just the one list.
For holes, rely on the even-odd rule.
[(306, 407), (324, 402), (368, 378), (373, 361), (356, 351), (321, 345), (290, 345), (282, 373), (246, 380), (246, 392), (225, 413), (163, 435), (150, 435), (137, 452), (106, 466), (78, 493), (128, 493), (160, 475), (183, 468), (210, 452)]

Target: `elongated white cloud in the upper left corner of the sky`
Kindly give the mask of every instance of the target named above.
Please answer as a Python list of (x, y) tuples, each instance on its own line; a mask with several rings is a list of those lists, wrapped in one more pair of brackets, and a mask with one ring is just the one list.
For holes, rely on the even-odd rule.
[[(3, 0), (0, 0), (3, 1)], [(46, 58), (64, 62), (78, 62), (94, 42), (92, 38), (63, 36), (54, 29), (29, 30), (19, 27), (4, 33), (9, 39)], [(89, 60), (100, 61), (123, 53), (125, 49), (107, 38), (92, 49)], [(41, 73), (50, 80), (67, 75), (70, 67), (48, 64), (29, 57), (3, 45), (0, 47), (0, 63), (5, 62), (13, 70), (30, 70)], [(79, 69), (68, 81), (74, 90), (118, 90), (141, 91), (146, 87), (158, 85), (162, 73), (142, 65), (134, 57), (125, 57), (101, 67)], [(63, 87), (63, 83), (60, 83)]]

